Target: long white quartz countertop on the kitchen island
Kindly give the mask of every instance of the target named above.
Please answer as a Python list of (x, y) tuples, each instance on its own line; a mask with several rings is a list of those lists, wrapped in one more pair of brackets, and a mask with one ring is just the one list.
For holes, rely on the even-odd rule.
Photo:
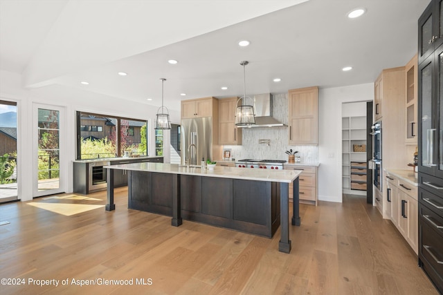
[(195, 167), (179, 166), (178, 164), (163, 163), (132, 163), (104, 166), (110, 169), (129, 171), (146, 171), (157, 173), (172, 173), (183, 175), (208, 176), (215, 178), (234, 178), (242, 180), (258, 180), (270, 182), (291, 183), (298, 178), (302, 171), (296, 170), (269, 170), (269, 169), (244, 169), (230, 166), (215, 166), (214, 169), (201, 169)]

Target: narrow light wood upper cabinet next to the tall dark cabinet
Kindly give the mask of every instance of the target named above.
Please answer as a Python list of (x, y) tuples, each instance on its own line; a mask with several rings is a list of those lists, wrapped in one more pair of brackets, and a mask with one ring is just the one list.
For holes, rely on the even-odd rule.
[(417, 145), (417, 55), (405, 66), (406, 73), (406, 144)]

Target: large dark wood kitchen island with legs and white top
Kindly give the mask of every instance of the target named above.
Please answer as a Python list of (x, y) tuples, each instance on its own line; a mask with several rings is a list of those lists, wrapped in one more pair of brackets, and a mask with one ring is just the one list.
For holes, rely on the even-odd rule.
[(114, 170), (127, 171), (128, 208), (202, 222), (271, 238), (281, 227), (279, 250), (289, 253), (289, 183), (293, 183), (293, 225), (298, 214), (300, 171), (216, 166), (213, 170), (177, 164), (105, 166), (106, 210), (115, 209)]

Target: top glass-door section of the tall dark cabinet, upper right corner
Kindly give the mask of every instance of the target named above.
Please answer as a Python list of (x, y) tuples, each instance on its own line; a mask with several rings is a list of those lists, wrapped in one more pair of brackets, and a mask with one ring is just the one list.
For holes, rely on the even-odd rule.
[(443, 44), (443, 0), (434, 0), (418, 20), (418, 61), (419, 64)]

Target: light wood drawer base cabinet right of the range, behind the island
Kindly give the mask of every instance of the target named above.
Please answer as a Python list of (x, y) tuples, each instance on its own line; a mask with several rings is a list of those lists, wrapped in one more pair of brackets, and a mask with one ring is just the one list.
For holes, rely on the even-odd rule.
[[(318, 169), (317, 166), (300, 166), (284, 164), (285, 170), (301, 170), (298, 177), (298, 193), (300, 203), (315, 204), (318, 203)], [(292, 184), (289, 184), (289, 199), (292, 200)]]

